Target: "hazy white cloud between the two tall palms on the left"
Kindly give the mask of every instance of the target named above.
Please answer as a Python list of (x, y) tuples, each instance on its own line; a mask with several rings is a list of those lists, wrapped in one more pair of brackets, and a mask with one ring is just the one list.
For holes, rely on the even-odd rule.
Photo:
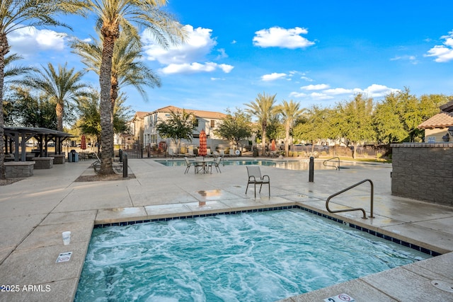
[(14, 30), (8, 35), (11, 51), (23, 56), (33, 54), (39, 50), (64, 49), (66, 34), (57, 33), (53, 30), (38, 30), (33, 26)]

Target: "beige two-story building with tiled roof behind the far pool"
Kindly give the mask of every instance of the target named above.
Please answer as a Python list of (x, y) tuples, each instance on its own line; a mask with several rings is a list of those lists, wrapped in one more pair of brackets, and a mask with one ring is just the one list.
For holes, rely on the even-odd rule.
[(216, 129), (219, 122), (226, 117), (224, 113), (166, 106), (145, 115), (143, 132), (144, 146), (157, 146), (162, 141), (165, 141), (166, 145), (171, 146), (174, 149), (173, 151), (176, 152), (176, 146), (172, 146), (173, 142), (171, 139), (160, 137), (159, 132), (156, 130), (156, 125), (159, 121), (167, 120), (171, 116), (171, 112), (183, 112), (183, 110), (192, 113), (195, 116), (197, 127), (193, 130), (193, 141), (181, 141), (182, 145), (198, 146), (200, 144), (199, 137), (202, 129), (205, 129), (207, 134), (207, 146), (211, 150), (215, 150), (217, 146), (229, 145), (229, 141), (222, 139), (214, 133), (214, 129)]

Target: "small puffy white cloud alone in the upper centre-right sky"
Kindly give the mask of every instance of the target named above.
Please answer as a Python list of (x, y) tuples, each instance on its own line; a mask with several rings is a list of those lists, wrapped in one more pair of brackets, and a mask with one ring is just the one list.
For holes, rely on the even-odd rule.
[(258, 47), (282, 47), (294, 50), (296, 48), (305, 48), (314, 45), (314, 42), (302, 37), (302, 34), (308, 33), (306, 28), (280, 28), (273, 27), (269, 29), (258, 30), (253, 37), (253, 45)]

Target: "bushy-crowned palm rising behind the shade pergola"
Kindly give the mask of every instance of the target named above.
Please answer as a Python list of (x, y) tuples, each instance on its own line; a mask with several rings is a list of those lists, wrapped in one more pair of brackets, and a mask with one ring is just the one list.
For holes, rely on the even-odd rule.
[(58, 65), (58, 71), (52, 63), (38, 71), (37, 76), (26, 76), (19, 83), (41, 91), (46, 98), (55, 102), (55, 111), (57, 112), (57, 130), (63, 131), (63, 115), (65, 103), (73, 103), (79, 97), (86, 94), (87, 86), (81, 82), (84, 75), (81, 71), (74, 71), (74, 68), (67, 69)]

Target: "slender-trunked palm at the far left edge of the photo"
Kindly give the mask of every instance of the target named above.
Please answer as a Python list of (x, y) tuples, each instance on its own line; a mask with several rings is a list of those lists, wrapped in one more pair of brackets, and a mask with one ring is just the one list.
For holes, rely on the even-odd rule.
[(5, 179), (4, 165), (4, 67), (9, 52), (7, 35), (26, 26), (62, 25), (55, 18), (59, 13), (75, 13), (81, 8), (78, 1), (67, 0), (1, 0), (0, 1), (0, 179)]

